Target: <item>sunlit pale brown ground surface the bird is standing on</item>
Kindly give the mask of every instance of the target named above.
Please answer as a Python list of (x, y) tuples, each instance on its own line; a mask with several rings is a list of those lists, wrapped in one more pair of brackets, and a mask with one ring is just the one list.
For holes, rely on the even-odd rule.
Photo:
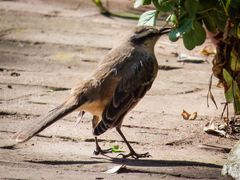
[[(112, 1), (113, 10), (131, 11)], [(120, 4), (122, 6), (120, 6)], [(115, 8), (115, 9), (114, 9)], [(0, 1), (0, 140), (59, 105), (69, 90), (93, 71), (99, 60), (136, 26), (136, 20), (105, 17), (91, 1)], [(180, 63), (177, 54), (201, 56), (204, 45), (187, 51), (182, 42), (162, 37), (155, 46), (159, 73), (151, 90), (126, 117), (123, 132), (137, 152), (150, 158), (95, 156), (91, 115), (75, 125), (77, 113), (17, 146), (1, 146), (1, 179), (226, 179), (221, 176), (227, 151), (237, 139), (203, 131), (211, 119), (221, 122), (223, 89), (213, 79), (207, 92), (212, 57), (203, 63)], [(181, 112), (197, 112), (186, 121)], [(102, 148), (119, 145), (112, 129), (100, 138)], [(203, 148), (203, 145), (224, 148)], [(104, 173), (125, 164), (118, 174)]]

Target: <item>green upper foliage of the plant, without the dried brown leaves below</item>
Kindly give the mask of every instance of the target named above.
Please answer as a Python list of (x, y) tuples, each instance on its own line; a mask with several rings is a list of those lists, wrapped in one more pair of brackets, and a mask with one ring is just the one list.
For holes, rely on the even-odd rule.
[[(206, 39), (205, 28), (215, 33), (224, 30), (227, 20), (224, 8), (218, 0), (136, 0), (134, 7), (153, 4), (156, 10), (143, 13), (139, 25), (156, 24), (158, 15), (168, 13), (166, 21), (174, 28), (169, 33), (171, 41), (183, 38), (184, 46), (192, 50)], [(230, 4), (228, 4), (229, 8)]]

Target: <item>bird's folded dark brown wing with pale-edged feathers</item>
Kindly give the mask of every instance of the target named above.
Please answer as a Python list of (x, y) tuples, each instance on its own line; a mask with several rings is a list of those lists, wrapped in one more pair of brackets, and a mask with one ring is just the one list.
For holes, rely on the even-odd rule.
[(94, 129), (95, 135), (118, 125), (116, 121), (121, 121), (120, 117), (131, 110), (152, 86), (157, 74), (155, 56), (144, 52), (135, 53), (138, 54), (132, 54), (116, 66), (116, 76), (120, 76), (121, 80), (103, 111), (102, 121)]

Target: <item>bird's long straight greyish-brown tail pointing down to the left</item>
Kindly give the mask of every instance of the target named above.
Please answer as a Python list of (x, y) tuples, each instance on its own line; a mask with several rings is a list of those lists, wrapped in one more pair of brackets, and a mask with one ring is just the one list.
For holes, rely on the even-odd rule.
[(78, 101), (76, 97), (72, 96), (65, 103), (50, 111), (43, 118), (34, 120), (27, 127), (15, 133), (12, 138), (18, 143), (25, 142), (57, 120), (77, 109), (83, 103), (84, 102)]

